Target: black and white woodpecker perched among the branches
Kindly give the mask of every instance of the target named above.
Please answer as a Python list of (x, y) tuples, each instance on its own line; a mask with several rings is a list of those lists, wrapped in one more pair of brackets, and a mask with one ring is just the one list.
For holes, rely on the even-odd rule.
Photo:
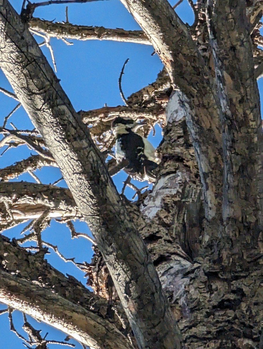
[(160, 162), (152, 144), (138, 131), (144, 124), (136, 123), (129, 118), (117, 117), (111, 125), (116, 138), (115, 156), (117, 162), (127, 160), (124, 171), (139, 181), (155, 181), (152, 173)]

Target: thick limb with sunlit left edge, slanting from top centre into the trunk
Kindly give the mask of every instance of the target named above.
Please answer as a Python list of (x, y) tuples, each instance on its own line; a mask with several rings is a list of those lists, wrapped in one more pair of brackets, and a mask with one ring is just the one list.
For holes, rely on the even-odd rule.
[(219, 215), (222, 183), (221, 127), (213, 80), (190, 32), (166, 0), (121, 0), (159, 54), (173, 86), (191, 110), (187, 126), (204, 189), (207, 220)]

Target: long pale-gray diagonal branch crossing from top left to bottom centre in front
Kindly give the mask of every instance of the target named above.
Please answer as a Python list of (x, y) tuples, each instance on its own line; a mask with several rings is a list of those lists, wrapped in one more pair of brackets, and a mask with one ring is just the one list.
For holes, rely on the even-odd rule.
[(180, 332), (149, 252), (101, 154), (35, 39), (7, 0), (0, 1), (0, 58), (3, 72), (92, 229), (139, 347), (181, 348)]

